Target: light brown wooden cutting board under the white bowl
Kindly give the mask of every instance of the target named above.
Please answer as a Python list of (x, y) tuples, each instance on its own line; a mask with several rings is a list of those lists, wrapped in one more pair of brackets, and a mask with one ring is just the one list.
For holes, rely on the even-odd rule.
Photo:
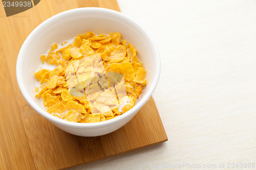
[(15, 66), (24, 40), (47, 18), (81, 7), (119, 11), (115, 0), (44, 0), (10, 17), (0, 7), (0, 169), (66, 168), (167, 140), (153, 98), (124, 127), (99, 137), (79, 137), (59, 130), (23, 98)]

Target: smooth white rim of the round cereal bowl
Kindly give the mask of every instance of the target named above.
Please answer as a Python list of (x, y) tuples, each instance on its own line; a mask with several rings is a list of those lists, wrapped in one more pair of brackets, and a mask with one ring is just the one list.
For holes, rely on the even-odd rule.
[[(46, 110), (40, 108), (39, 106), (37, 106), (37, 104), (33, 101), (33, 99), (30, 97), (29, 93), (27, 92), (25, 85), (24, 85), (24, 80), (22, 79), (22, 59), (23, 56), (25, 55), (25, 49), (27, 48), (28, 44), (31, 43), (31, 41), (33, 40), (34, 35), (37, 34), (38, 30), (40, 30), (41, 28), (45, 27), (46, 25), (48, 25), (50, 22), (54, 22), (55, 20), (58, 20), (59, 18), (62, 18), (63, 16), (68, 16), (70, 14), (74, 13), (90, 13), (90, 12), (99, 12), (99, 13), (109, 13), (110, 15), (113, 15), (115, 17), (118, 17), (122, 20), (125, 20), (127, 22), (130, 22), (133, 27), (136, 30), (139, 30), (139, 32), (141, 32), (141, 34), (143, 34), (143, 36), (148, 40), (148, 43), (150, 43), (150, 45), (153, 47), (153, 53), (154, 53), (154, 63), (156, 65), (156, 70), (155, 70), (155, 76), (153, 77), (153, 81), (152, 84), (150, 85), (150, 87), (148, 87), (147, 92), (144, 94), (143, 98), (129, 111), (125, 112), (125, 114), (121, 114), (118, 117), (112, 118), (110, 120), (106, 120), (103, 122), (97, 122), (97, 123), (75, 123), (75, 122), (69, 122), (67, 120), (63, 120), (60, 119), (56, 116), (53, 116), (51, 114), (49, 114), (48, 112), (46, 112)], [(16, 79), (17, 79), (17, 83), (18, 83), (18, 87), (20, 92), (23, 94), (25, 100), (29, 103), (29, 105), (40, 115), (44, 116), (45, 118), (49, 119), (51, 122), (59, 124), (59, 125), (63, 125), (63, 126), (69, 126), (69, 127), (73, 127), (73, 128), (99, 128), (99, 127), (104, 127), (104, 126), (109, 126), (111, 124), (115, 124), (120, 122), (123, 119), (126, 119), (127, 117), (133, 115), (134, 112), (138, 112), (139, 109), (144, 106), (144, 104), (150, 100), (160, 77), (160, 70), (161, 70), (161, 65), (160, 65), (160, 54), (157, 48), (157, 45), (155, 43), (155, 41), (153, 40), (152, 37), (150, 37), (145, 31), (144, 29), (142, 29), (142, 27), (136, 22), (134, 21), (131, 17), (118, 12), (118, 11), (114, 11), (111, 9), (105, 9), (105, 8), (97, 8), (97, 7), (85, 7), (85, 8), (76, 8), (76, 9), (71, 9), (71, 10), (67, 10), (61, 13), (58, 13), (50, 18), (48, 18), (47, 20), (45, 20), (44, 22), (40, 23), (40, 25), (38, 25), (30, 34), (29, 36), (26, 38), (26, 40), (24, 41), (22, 47), (20, 48), (20, 51), (18, 53), (18, 57), (17, 57), (17, 61), (16, 61)], [(148, 85), (147, 85), (148, 86)]]

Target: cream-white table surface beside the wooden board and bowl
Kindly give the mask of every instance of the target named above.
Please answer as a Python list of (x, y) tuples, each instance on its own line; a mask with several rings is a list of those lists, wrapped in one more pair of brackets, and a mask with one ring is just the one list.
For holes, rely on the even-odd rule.
[(256, 169), (255, 1), (117, 2), (159, 47), (168, 141), (77, 169)]

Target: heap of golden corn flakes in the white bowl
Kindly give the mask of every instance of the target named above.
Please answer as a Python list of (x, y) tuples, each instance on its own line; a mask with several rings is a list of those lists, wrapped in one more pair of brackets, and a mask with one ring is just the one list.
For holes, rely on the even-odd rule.
[[(53, 43), (42, 63), (55, 69), (34, 73), (50, 114), (70, 122), (96, 123), (130, 110), (146, 85), (146, 71), (132, 44), (119, 32), (79, 34), (72, 44)], [(68, 110), (68, 111), (67, 111)]]

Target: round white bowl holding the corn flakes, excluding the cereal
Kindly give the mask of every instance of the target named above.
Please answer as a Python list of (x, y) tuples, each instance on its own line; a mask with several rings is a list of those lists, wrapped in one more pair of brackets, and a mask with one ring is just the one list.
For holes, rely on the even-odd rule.
[[(138, 52), (138, 58), (145, 67), (147, 86), (135, 106), (116, 118), (88, 124), (68, 122), (46, 112), (42, 101), (35, 98), (36, 81), (33, 73), (41, 64), (40, 55), (46, 53), (52, 43), (60, 43), (88, 31), (96, 34), (120, 32), (122, 39), (132, 43)], [(150, 99), (159, 76), (160, 56), (152, 38), (130, 17), (104, 8), (72, 9), (42, 22), (23, 43), (16, 63), (18, 86), (29, 105), (56, 127), (78, 136), (100, 136), (124, 126)]]

